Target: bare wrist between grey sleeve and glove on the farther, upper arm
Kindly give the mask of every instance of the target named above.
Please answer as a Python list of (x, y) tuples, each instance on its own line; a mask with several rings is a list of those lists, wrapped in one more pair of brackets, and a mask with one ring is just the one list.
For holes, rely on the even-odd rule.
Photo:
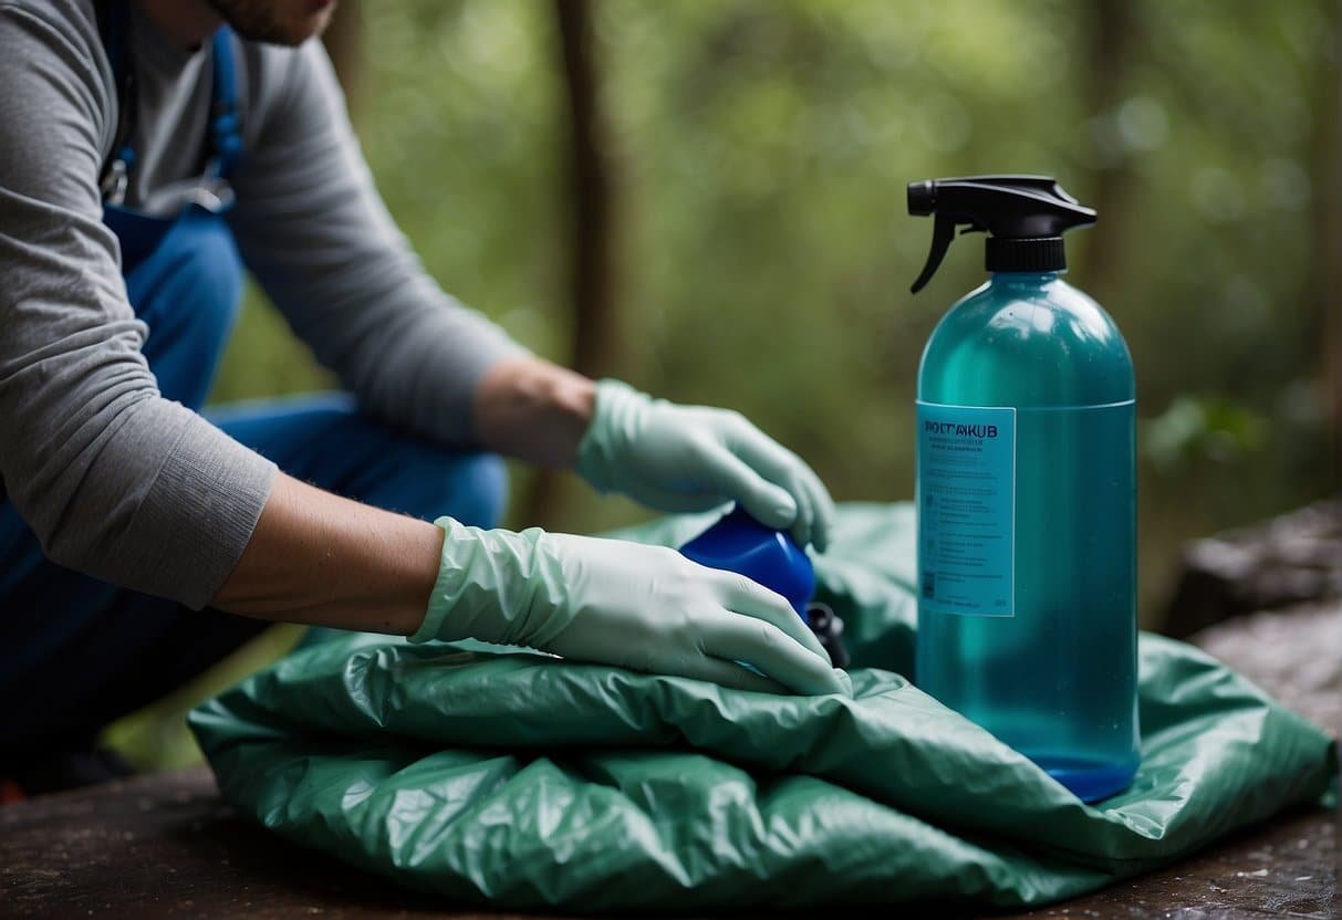
[(475, 430), (490, 451), (541, 467), (572, 467), (592, 421), (595, 385), (539, 358), (491, 367), (475, 390)]

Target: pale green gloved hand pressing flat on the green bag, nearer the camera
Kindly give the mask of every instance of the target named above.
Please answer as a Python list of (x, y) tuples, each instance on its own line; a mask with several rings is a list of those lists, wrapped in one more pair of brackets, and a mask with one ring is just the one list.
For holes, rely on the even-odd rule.
[(738, 689), (852, 695), (788, 602), (749, 578), (659, 546), (435, 523), (442, 567), (412, 642), (478, 638)]

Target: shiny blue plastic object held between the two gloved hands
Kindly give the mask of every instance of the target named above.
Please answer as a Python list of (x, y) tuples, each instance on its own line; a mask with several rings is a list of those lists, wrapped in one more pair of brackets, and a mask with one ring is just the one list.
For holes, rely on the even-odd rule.
[(784, 531), (765, 527), (737, 507), (680, 547), (687, 559), (734, 571), (781, 594), (807, 624), (807, 603), (816, 590), (811, 558)]

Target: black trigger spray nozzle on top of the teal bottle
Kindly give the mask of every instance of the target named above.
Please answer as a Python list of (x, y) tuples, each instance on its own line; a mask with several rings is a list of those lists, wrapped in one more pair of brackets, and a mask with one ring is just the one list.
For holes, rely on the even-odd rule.
[(1059, 271), (1067, 267), (1062, 235), (1095, 223), (1095, 212), (1048, 176), (969, 176), (909, 184), (909, 213), (935, 215), (927, 264), (917, 294), (931, 280), (956, 239), (984, 231), (989, 271)]

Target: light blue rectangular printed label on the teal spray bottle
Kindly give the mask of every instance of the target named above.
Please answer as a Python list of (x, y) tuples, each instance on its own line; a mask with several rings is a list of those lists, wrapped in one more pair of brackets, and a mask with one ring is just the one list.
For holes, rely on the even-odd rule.
[(923, 610), (1016, 616), (1016, 410), (918, 402)]

